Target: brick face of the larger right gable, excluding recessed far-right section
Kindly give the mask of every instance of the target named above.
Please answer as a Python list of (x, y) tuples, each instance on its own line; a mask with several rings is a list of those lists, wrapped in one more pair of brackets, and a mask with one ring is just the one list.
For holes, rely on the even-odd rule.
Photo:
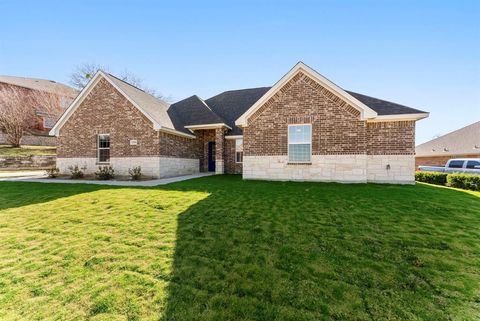
[(286, 155), (288, 125), (312, 124), (312, 153), (365, 154), (360, 113), (303, 73), (292, 78), (248, 120), (244, 153)]

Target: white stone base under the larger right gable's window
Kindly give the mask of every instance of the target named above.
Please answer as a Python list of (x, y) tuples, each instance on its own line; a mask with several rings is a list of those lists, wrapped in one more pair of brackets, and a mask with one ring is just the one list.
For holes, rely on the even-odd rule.
[(289, 164), (288, 156), (244, 156), (244, 179), (367, 182), (367, 155), (312, 155), (309, 164)]

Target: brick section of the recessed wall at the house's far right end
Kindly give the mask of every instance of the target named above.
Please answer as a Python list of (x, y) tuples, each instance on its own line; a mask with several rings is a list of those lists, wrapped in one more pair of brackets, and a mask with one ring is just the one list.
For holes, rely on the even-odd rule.
[(369, 155), (415, 154), (415, 122), (392, 121), (367, 124)]

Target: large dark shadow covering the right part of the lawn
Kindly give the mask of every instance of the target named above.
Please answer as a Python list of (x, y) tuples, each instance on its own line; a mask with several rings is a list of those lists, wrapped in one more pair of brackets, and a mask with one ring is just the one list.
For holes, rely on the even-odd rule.
[[(478, 313), (480, 198), (427, 185), (212, 177), (179, 215), (161, 320), (448, 320)], [(460, 258), (462, 256), (462, 258)], [(477, 296), (476, 296), (477, 295)]]

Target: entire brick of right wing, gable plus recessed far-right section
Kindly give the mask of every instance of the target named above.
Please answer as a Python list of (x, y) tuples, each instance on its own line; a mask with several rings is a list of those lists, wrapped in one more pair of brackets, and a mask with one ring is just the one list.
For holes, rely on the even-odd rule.
[(311, 123), (313, 155), (414, 154), (414, 121), (367, 123), (359, 117), (358, 110), (299, 73), (248, 119), (244, 152), (287, 155), (288, 125)]

